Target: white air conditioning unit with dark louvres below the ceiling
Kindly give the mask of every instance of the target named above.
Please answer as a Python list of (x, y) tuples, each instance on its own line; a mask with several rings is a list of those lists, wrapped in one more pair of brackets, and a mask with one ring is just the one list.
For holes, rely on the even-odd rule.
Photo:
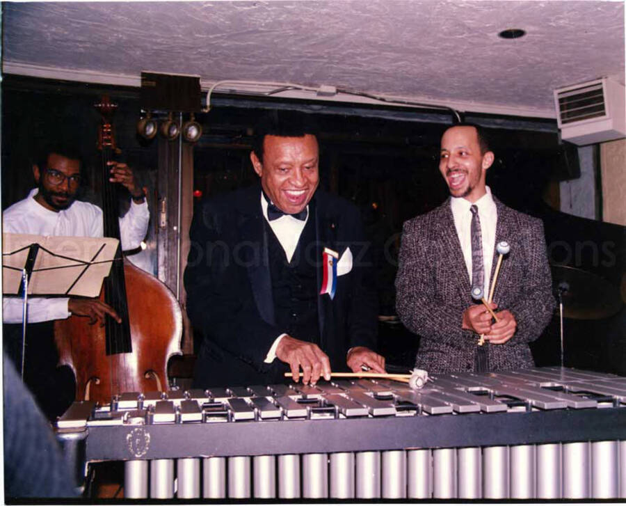
[(625, 88), (602, 78), (554, 90), (561, 137), (578, 145), (626, 136)]

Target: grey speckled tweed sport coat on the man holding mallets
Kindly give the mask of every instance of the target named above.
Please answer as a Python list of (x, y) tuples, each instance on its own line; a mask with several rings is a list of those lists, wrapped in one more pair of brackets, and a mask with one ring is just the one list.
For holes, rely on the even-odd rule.
[[(502, 261), (493, 301), (497, 310), (513, 313), (517, 329), (504, 345), (486, 345), (489, 367), (531, 367), (528, 343), (545, 329), (555, 306), (543, 223), (494, 201), (495, 244), (507, 241), (511, 252)], [(496, 251), (493, 256), (490, 280)], [(404, 223), (396, 309), (406, 328), (421, 336), (416, 367), (440, 373), (474, 370), (479, 336), (461, 328), (463, 311), (476, 303), (470, 285), (449, 198), (437, 209)]]

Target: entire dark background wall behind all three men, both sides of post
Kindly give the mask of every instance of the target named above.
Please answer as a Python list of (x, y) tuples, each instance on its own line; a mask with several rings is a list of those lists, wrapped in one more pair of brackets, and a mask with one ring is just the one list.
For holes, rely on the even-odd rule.
[[(36, 79), (5, 77), (2, 88), (2, 208), (24, 198), (33, 187), (30, 157), (36, 145), (50, 136), (74, 139), (90, 159), (90, 177), (85, 198), (98, 202), (99, 187), (95, 151), (98, 114), (93, 104), (102, 93), (109, 93), (119, 104), (114, 124), (117, 127), (120, 159), (133, 166), (143, 184), (157, 188), (157, 141), (146, 143), (135, 134), (140, 117), (139, 90), (86, 84), (55, 83)], [(250, 129), (266, 112), (268, 103), (250, 101), (216, 106), (209, 113), (197, 115), (204, 133), (194, 148), (194, 189), (210, 196), (255, 181), (250, 164)], [(284, 104), (282, 104), (284, 106)], [(347, 111), (347, 112), (346, 112)], [(309, 113), (320, 125), (321, 186), (352, 200), (362, 210), (367, 230), (374, 241), (376, 282), (380, 314), (394, 314), (394, 278), (397, 251), (403, 221), (440, 205), (447, 198), (447, 188), (438, 171), (439, 140), (447, 126), (441, 120), (423, 121), (405, 116), (385, 116), (385, 111), (310, 106)], [(417, 115), (418, 113), (415, 113)], [(410, 120), (411, 119), (411, 120)], [(506, 118), (505, 118), (506, 119)], [(447, 124), (451, 118), (443, 119)], [(490, 118), (486, 118), (490, 120)], [(547, 243), (556, 240), (575, 248), (575, 242), (590, 240), (602, 245), (613, 242), (610, 265), (571, 258), (572, 267), (618, 285), (624, 271), (624, 229), (603, 226), (556, 212), (545, 205), (543, 196), (549, 185), (563, 178), (562, 150), (556, 125), (546, 127), (537, 121), (537, 129), (515, 127), (499, 118), (504, 126), (488, 129), (496, 161), (488, 172), (488, 184), (505, 204), (544, 219)], [(508, 125), (508, 127), (506, 127)], [(549, 126), (549, 125), (548, 125)], [(575, 171), (571, 175), (575, 175)], [(568, 175), (565, 174), (565, 177)], [(152, 198), (151, 240), (155, 240)], [(184, 198), (193, 198), (185, 195)], [(552, 253), (559, 253), (555, 249)], [(552, 260), (560, 261), (559, 258)], [(621, 316), (620, 316), (621, 315)], [(571, 341), (568, 365), (586, 366), (626, 374), (625, 364), (616, 354), (625, 349), (623, 313), (600, 321), (567, 322), (566, 335)], [(619, 320), (618, 318), (621, 318)], [(558, 361), (558, 325), (556, 320), (538, 343), (536, 357), (542, 363)], [(398, 330), (400, 329), (400, 330)], [(415, 356), (417, 338), (398, 326), (382, 326), (381, 346), (401, 361)], [(584, 336), (593, 333), (593, 342)], [(607, 336), (607, 337), (604, 337)], [(555, 351), (556, 350), (556, 351)], [(567, 356), (567, 354), (566, 354)], [(591, 358), (590, 358), (591, 356)]]

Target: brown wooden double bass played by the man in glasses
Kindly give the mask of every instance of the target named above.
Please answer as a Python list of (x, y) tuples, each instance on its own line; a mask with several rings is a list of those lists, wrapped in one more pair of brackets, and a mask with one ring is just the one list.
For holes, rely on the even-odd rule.
[[(102, 115), (104, 236), (120, 239), (117, 185), (109, 182), (108, 165), (117, 150), (111, 122), (117, 106), (106, 96), (95, 106)], [(182, 353), (182, 312), (174, 294), (125, 259), (120, 243), (100, 299), (117, 311), (121, 324), (109, 315), (104, 326), (73, 315), (54, 324), (59, 365), (68, 365), (76, 378), (75, 398), (107, 404), (118, 393), (166, 389), (168, 359)]]

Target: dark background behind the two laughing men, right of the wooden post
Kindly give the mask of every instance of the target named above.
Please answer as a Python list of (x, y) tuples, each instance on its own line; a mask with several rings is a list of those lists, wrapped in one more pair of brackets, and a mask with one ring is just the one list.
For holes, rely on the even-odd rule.
[[(216, 109), (204, 115), (204, 136), (195, 148), (195, 189), (210, 196), (251, 184), (248, 129), (264, 113), (255, 109)], [(440, 122), (381, 119), (342, 113), (312, 113), (321, 125), (321, 186), (352, 200), (362, 211), (373, 241), (380, 315), (395, 314), (394, 279), (404, 221), (428, 212), (447, 198), (438, 171)], [(514, 122), (512, 122), (514, 123)], [(577, 177), (572, 149), (559, 145), (556, 127), (545, 132), (489, 128), (496, 160), (487, 182), (506, 205), (544, 220), (549, 260), (583, 271), (591, 290), (602, 278), (618, 286), (623, 275), (625, 229), (579, 219), (551, 209), (544, 196), (558, 182)], [(575, 149), (574, 149), (575, 151)], [(609, 251), (595, 257), (596, 251)], [(578, 248), (578, 249), (577, 249)], [(581, 251), (565, 258), (565, 251)], [(556, 278), (555, 278), (556, 280)], [(601, 319), (565, 318), (565, 364), (626, 374), (626, 311)], [(560, 361), (559, 318), (533, 343), (539, 365)], [(412, 367), (419, 338), (396, 322), (380, 323), (379, 345), (390, 363)]]

